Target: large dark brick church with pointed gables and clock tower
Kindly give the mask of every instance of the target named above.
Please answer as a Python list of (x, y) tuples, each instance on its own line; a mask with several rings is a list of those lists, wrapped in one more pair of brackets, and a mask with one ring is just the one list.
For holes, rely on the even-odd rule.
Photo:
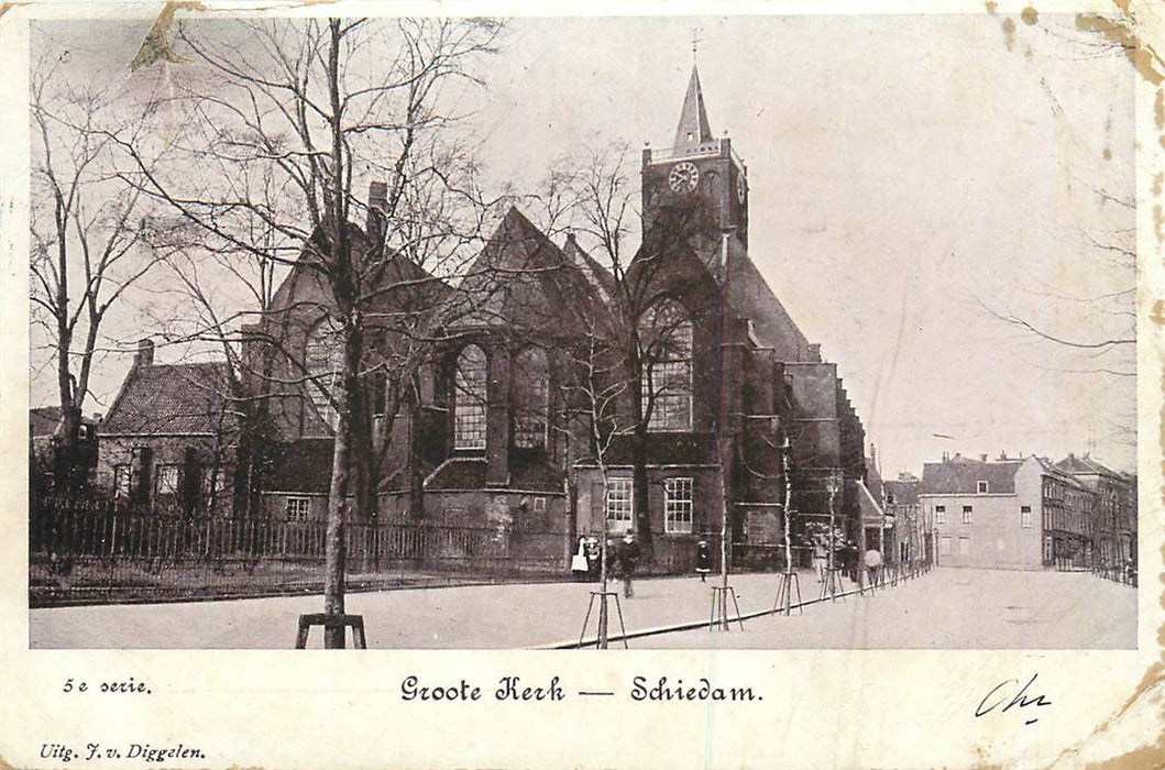
[[(409, 316), (426, 331), (366, 330), (361, 447), (373, 459), (361, 472), (375, 479), (376, 522), (496, 529), (507, 558), (548, 571), (565, 570), (603, 518), (649, 541), (658, 571), (691, 568), (696, 543), (721, 531), (734, 559), (771, 566), (786, 510), (795, 534), (832, 515), (854, 536), (861, 421), (836, 365), (756, 267), (765, 249), (749, 242), (748, 169), (713, 135), (694, 66), (672, 146), (644, 149), (641, 175), (642, 245), (617, 276), (517, 209), (460, 280), (383, 255), (386, 285), (410, 288), (377, 292), (365, 317)], [(374, 183), (354, 242), (375, 241), (383, 195)], [(257, 394), (262, 430), (252, 459), (238, 458), (233, 478), (250, 488), (228, 495), (235, 516), (324, 516), (337, 419), (329, 302), (318, 273), (297, 264), (247, 330), (246, 368), (278, 388)], [(613, 340), (628, 322), (635, 340)], [(630, 352), (635, 366), (598, 367), (596, 379), (600, 338), (598, 355)], [(637, 376), (621, 389), (628, 370)], [(605, 387), (620, 395), (596, 431), (588, 396)]]

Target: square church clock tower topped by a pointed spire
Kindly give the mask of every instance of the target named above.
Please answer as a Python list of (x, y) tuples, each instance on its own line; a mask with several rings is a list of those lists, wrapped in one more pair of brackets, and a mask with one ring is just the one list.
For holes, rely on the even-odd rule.
[(712, 135), (696, 64), (672, 146), (643, 149), (642, 181), (644, 233), (668, 207), (700, 206), (707, 226), (697, 249), (709, 267), (748, 248), (748, 169), (732, 140)]

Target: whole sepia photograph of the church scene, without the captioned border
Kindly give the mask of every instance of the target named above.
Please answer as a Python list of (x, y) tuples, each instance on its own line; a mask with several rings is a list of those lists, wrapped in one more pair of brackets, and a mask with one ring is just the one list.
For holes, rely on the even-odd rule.
[(28, 35), (31, 648), (1137, 647), (1081, 16)]

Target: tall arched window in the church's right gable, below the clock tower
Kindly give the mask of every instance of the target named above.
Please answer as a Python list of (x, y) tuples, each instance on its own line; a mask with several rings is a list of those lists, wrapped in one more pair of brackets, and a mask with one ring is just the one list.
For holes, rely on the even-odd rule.
[(640, 324), (643, 411), (649, 430), (692, 430), (692, 322), (671, 299), (652, 305)]

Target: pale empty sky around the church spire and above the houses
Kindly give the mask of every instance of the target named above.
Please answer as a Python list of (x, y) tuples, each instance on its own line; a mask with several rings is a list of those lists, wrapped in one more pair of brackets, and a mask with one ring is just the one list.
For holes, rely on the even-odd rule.
[[(466, 106), (488, 178), (520, 191), (596, 143), (668, 147), (694, 28), (713, 133), (748, 165), (750, 256), (838, 363), (882, 472), (1004, 451), (1131, 469), (1135, 380), (1096, 372), (1131, 354), (990, 311), (1073, 340), (1130, 333), (1130, 294), (1087, 299), (1134, 287), (1111, 248), (1132, 226), (1134, 72), (1071, 17), (1005, 21), (515, 20)], [(132, 59), (148, 27), (54, 35), (89, 72)], [(103, 359), (90, 411), (128, 365)], [(31, 403), (51, 387), (34, 370)]]

